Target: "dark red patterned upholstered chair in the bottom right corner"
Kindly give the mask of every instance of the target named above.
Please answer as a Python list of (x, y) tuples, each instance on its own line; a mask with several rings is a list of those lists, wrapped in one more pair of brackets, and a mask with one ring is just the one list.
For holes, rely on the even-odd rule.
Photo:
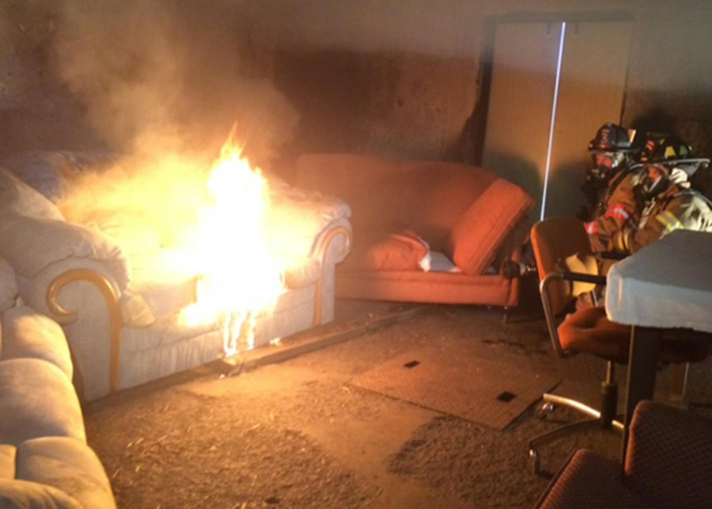
[(625, 468), (576, 451), (537, 509), (712, 507), (712, 421), (650, 401), (638, 404)]

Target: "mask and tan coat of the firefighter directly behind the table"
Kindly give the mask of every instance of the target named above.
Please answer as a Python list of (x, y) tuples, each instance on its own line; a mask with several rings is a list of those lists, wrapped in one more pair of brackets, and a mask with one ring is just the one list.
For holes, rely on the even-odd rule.
[(613, 235), (609, 250), (632, 254), (679, 229), (712, 232), (712, 203), (690, 188), (688, 178), (681, 168), (646, 165), (634, 195), (649, 204), (649, 213), (639, 229), (626, 225)]

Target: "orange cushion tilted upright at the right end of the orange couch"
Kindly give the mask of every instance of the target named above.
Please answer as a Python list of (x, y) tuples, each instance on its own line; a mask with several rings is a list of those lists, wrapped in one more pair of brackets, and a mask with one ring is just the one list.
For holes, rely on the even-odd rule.
[(456, 221), (444, 252), (469, 275), (482, 274), (510, 230), (534, 200), (519, 186), (498, 178)]

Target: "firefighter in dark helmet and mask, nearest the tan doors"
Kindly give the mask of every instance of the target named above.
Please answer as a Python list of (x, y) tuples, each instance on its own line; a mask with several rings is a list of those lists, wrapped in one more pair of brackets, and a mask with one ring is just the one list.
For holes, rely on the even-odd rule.
[(601, 198), (609, 182), (622, 169), (627, 168), (632, 161), (635, 132), (629, 131), (617, 124), (603, 124), (596, 136), (588, 144), (588, 150), (593, 159), (593, 167), (586, 174), (586, 180), (581, 191), (586, 196), (589, 207), (583, 213), (585, 220), (591, 220), (601, 215), (599, 210)]

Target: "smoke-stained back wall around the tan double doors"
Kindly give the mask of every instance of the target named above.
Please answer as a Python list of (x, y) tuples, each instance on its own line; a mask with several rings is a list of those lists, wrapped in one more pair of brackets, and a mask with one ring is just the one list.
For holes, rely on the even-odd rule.
[[(57, 71), (33, 75), (19, 68), (17, 55), (0, 49), (0, 62), (22, 71), (12, 81), (0, 70), (0, 81), (17, 85), (3, 89), (0, 82), (4, 104), (31, 104), (45, 114), (42, 102), (14, 94), (37, 90), (33, 97), (50, 97), (41, 79), (61, 75), (95, 129), (124, 151), (218, 144), (238, 121), (246, 154), (260, 163), (300, 151), (477, 161), (487, 28), (525, 15), (621, 14), (632, 19), (632, 46), (623, 117), (611, 120), (675, 130), (701, 153), (712, 151), (708, 1), (0, 0), (3, 5), (12, 7), (8, 12), (43, 6), (51, 13), (51, 23), (41, 27), (49, 32), (51, 26), (48, 58)], [(5, 25), (23, 41), (37, 30), (17, 17)], [(17, 38), (6, 46), (22, 47)], [(0, 127), (19, 132), (6, 127), (3, 113)], [(73, 124), (46, 123), (62, 125), (56, 131)], [(12, 146), (4, 143), (17, 151), (26, 138), (15, 134)]]

